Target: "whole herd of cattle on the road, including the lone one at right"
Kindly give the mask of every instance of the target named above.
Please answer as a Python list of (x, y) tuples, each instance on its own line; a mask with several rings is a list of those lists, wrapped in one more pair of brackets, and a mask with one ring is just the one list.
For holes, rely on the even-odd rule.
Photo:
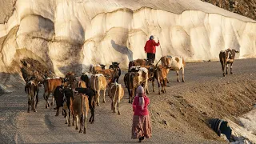
[[(234, 62), (235, 50), (221, 51), (219, 54), (222, 70), (224, 66)], [(162, 65), (158, 65), (161, 62)], [(158, 94), (166, 93), (166, 84), (168, 83), (167, 74), (170, 70), (176, 71), (177, 81), (179, 80), (179, 70), (182, 70), (182, 82), (184, 79), (184, 70), (186, 62), (182, 57), (163, 56), (156, 65), (146, 59), (137, 59), (129, 63), (128, 72), (124, 75), (124, 83), (128, 90), (129, 102), (134, 99), (135, 90), (138, 86), (143, 86), (146, 94), (149, 94), (148, 82), (152, 82), (154, 92), (154, 80), (158, 82)], [(104, 65), (90, 66), (89, 72), (83, 73), (80, 77), (75, 77), (74, 73), (66, 74), (65, 78), (46, 78), (43, 82), (38, 82), (37, 79), (31, 79), (26, 82), (25, 91), (28, 94), (28, 109), (37, 111), (39, 86), (43, 84), (43, 98), (46, 100), (46, 108), (54, 105), (56, 102), (56, 116), (58, 116), (59, 108), (62, 107), (62, 114), (66, 118), (66, 124), (70, 126), (70, 118), (72, 116), (72, 125), (78, 130), (78, 122), (80, 122), (79, 133), (86, 134), (87, 114), (90, 109), (89, 122), (94, 122), (95, 105), (99, 106), (100, 91), (103, 94), (103, 102), (105, 101), (106, 89), (111, 98), (111, 110), (116, 112), (116, 107), (119, 111), (119, 102), (124, 96), (124, 89), (121, 84), (118, 84), (121, 76), (121, 69), (118, 62), (112, 62), (109, 69), (105, 69)], [(224, 70), (223, 70), (224, 71)], [(226, 70), (227, 73), (227, 70)], [(223, 75), (225, 76), (224, 72)], [(160, 90), (160, 87), (162, 90)], [(52, 102), (48, 99), (50, 94), (53, 95)], [(82, 130), (83, 128), (83, 130)]]

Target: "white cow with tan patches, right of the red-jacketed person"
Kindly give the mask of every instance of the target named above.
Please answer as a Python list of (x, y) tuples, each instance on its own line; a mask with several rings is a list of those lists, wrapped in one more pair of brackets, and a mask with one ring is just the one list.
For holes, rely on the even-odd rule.
[[(178, 56), (174, 56), (174, 57), (164, 56), (160, 60), (162, 62), (162, 66), (170, 67), (170, 70), (176, 71), (177, 82), (181, 82), (178, 78), (178, 71), (182, 70), (182, 82), (185, 82), (184, 70), (185, 70), (186, 62), (184, 58), (178, 57)], [(167, 79), (167, 82), (169, 83), (168, 79)]]

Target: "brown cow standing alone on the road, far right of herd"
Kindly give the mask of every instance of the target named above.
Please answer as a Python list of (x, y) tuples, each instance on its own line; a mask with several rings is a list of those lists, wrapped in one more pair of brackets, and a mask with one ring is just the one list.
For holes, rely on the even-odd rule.
[(230, 74), (233, 74), (232, 72), (232, 66), (233, 66), (233, 62), (234, 62), (234, 57), (235, 54), (239, 53), (239, 51), (237, 50), (231, 50), (231, 49), (227, 49), (227, 50), (222, 50), (219, 53), (219, 61), (222, 64), (222, 72), (223, 72), (223, 77), (225, 77), (225, 66), (226, 66), (226, 74), (227, 73), (227, 69), (228, 69), (228, 64), (230, 64)]

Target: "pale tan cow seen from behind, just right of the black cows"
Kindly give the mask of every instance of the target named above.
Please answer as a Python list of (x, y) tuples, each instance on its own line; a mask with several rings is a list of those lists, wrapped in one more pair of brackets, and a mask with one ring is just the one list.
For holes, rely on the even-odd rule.
[(90, 84), (92, 86), (92, 89), (96, 91), (96, 103), (97, 106), (99, 106), (99, 97), (100, 97), (100, 91), (103, 90), (103, 102), (105, 103), (105, 93), (106, 93), (106, 78), (103, 74), (93, 74), (90, 78)]

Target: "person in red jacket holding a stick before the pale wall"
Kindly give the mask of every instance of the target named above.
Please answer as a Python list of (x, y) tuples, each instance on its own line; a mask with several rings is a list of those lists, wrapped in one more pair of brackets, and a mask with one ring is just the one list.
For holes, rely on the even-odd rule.
[(159, 40), (158, 40), (158, 43), (154, 42), (154, 36), (151, 35), (150, 40), (148, 40), (146, 42), (146, 45), (144, 46), (147, 59), (150, 60), (151, 62), (154, 62), (154, 59), (155, 59), (155, 51), (156, 51), (155, 46), (159, 46), (159, 45), (160, 45)]

